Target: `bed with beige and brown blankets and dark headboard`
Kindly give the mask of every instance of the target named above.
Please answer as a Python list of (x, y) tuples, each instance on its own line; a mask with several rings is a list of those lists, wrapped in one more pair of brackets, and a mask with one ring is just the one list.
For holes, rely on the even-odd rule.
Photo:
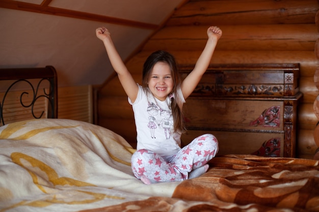
[[(41, 81), (45, 69), (55, 73), (48, 67), (20, 71)], [(1, 80), (9, 72), (0, 71)], [(44, 80), (55, 87), (44, 90), (56, 90), (57, 76), (51, 75)], [(1, 212), (319, 211), (317, 160), (222, 155), (198, 178), (144, 185), (131, 172), (135, 149), (123, 137), (59, 119), (57, 113), (48, 116), (47, 111), (58, 111), (51, 103), (45, 108), (40, 112), (45, 117), (9, 120), (0, 127)], [(2, 117), (12, 112), (1, 111)]]

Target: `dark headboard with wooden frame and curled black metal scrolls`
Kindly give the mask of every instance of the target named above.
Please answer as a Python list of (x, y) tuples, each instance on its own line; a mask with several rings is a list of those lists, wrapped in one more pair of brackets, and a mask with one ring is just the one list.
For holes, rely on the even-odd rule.
[[(39, 79), (37, 84), (32, 84), (30, 80)], [(5, 125), (4, 122), (4, 105), (6, 104), (5, 100), (7, 94), (11, 91), (11, 88), (23, 81), (28, 84), (28, 87), (33, 91), (33, 94), (28, 92), (21, 91), (20, 95), (20, 104), (24, 108), (30, 108), (34, 118), (41, 118), (44, 111), (40, 115), (35, 115), (34, 113), (34, 104), (39, 98), (47, 98), (48, 108), (47, 108), (47, 118), (57, 118), (58, 117), (58, 77), (56, 69), (52, 66), (46, 66), (45, 68), (15, 68), (15, 69), (0, 69), (0, 83), (2, 80), (13, 80), (11, 85), (5, 91), (4, 97), (0, 100), (0, 126)], [(40, 85), (44, 81), (49, 82), (48, 92), (43, 88), (44, 94), (39, 94)], [(28, 88), (28, 89), (29, 89)], [(20, 92), (20, 91), (19, 91)], [(24, 95), (33, 95), (32, 102), (25, 104), (22, 101)]]

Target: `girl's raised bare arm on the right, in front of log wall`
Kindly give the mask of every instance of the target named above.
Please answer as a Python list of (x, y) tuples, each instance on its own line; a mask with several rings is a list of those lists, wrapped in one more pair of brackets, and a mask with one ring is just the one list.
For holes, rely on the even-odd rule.
[(217, 42), (222, 36), (222, 31), (217, 26), (210, 26), (207, 29), (207, 36), (208, 40), (206, 46), (199, 56), (193, 71), (184, 79), (181, 84), (181, 90), (185, 99), (192, 94), (193, 90), (207, 70)]

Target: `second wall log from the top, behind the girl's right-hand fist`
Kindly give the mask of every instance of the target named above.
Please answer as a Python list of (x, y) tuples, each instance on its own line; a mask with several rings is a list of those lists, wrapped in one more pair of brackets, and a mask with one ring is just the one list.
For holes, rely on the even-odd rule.
[[(143, 50), (202, 50), (208, 26), (165, 27)], [(319, 38), (315, 24), (222, 25), (216, 50), (313, 50)]]

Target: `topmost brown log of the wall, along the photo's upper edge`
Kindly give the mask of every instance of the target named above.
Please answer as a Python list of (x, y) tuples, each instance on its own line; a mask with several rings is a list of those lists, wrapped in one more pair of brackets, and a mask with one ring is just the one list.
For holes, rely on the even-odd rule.
[(167, 25), (314, 23), (318, 9), (314, 0), (190, 1), (174, 13)]

